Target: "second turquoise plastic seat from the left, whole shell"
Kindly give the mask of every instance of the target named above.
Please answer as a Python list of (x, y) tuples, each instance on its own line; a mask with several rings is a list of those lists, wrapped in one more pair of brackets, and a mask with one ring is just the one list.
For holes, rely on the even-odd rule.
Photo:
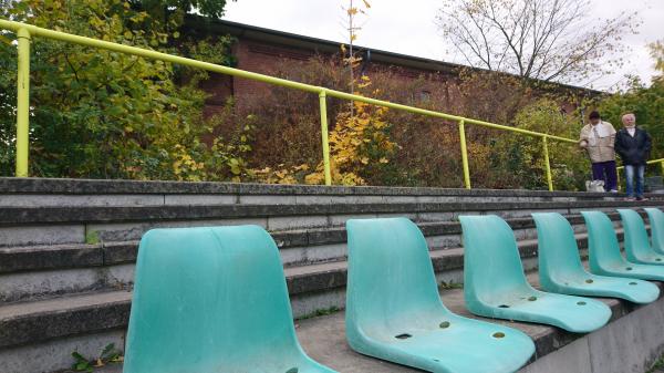
[(535, 352), (522, 332), (452, 313), (426, 241), (406, 218), (351, 219), (346, 338), (362, 354), (429, 372), (516, 372)]

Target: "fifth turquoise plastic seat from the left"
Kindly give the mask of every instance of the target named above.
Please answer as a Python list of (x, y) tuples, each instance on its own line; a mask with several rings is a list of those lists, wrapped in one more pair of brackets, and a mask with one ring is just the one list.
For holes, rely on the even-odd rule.
[(590, 271), (595, 274), (664, 281), (664, 267), (626, 261), (620, 253), (613, 224), (602, 211), (582, 211), (588, 227)]

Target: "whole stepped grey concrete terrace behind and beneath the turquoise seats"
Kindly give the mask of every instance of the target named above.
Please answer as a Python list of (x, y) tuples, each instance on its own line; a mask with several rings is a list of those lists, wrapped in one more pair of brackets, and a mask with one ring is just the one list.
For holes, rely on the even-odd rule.
[[(459, 215), (504, 217), (537, 283), (530, 213), (563, 214), (584, 255), (587, 234), (579, 211), (606, 211), (622, 239), (615, 208), (664, 206), (664, 196), (651, 197), (627, 203), (618, 195), (566, 191), (0, 178), (0, 372), (62, 371), (71, 366), (72, 351), (93, 358), (108, 343), (124, 346), (143, 232), (237, 224), (263, 226), (278, 244), (297, 331), (313, 359), (341, 372), (409, 372), (350, 351), (343, 312), (330, 313), (345, 302), (345, 220), (414, 220), (429, 245), (445, 304), (468, 315), (463, 290), (456, 289), (464, 258)], [(624, 373), (625, 362), (630, 372), (644, 372), (664, 349), (660, 329), (650, 328), (664, 322), (662, 300), (644, 307), (604, 301), (613, 319), (588, 335), (510, 323), (537, 344), (523, 372), (578, 372), (583, 366), (583, 372)], [(325, 315), (312, 317), (317, 314)], [(605, 355), (612, 351), (620, 354)], [(120, 367), (102, 372), (114, 370)]]

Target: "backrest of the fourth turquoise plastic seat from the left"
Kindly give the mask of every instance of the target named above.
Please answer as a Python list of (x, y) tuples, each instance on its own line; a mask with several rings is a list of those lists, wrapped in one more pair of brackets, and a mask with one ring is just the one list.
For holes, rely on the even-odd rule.
[(553, 289), (553, 279), (574, 278), (584, 274), (579, 256), (574, 230), (558, 213), (535, 213), (537, 226), (540, 282), (544, 289)]

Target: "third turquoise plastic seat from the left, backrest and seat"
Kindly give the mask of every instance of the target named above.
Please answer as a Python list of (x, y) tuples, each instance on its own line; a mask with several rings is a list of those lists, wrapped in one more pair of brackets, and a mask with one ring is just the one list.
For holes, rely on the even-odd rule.
[(495, 215), (461, 216), (464, 294), (470, 312), (497, 319), (539, 322), (585, 333), (611, 318), (600, 301), (533, 289), (523, 274), (517, 241)]

